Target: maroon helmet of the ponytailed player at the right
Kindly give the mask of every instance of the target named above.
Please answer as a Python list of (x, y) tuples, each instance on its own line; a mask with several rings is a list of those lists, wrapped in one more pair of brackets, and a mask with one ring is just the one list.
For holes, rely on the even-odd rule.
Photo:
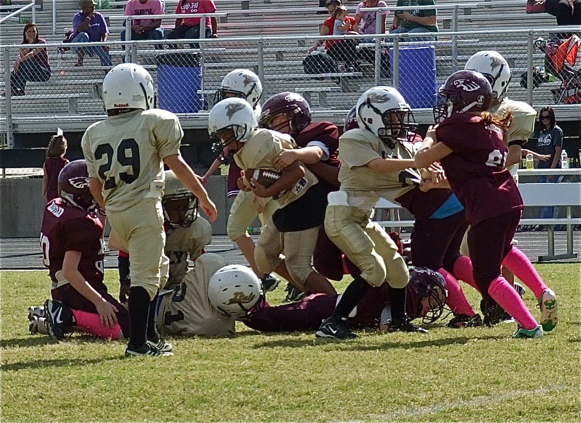
[(446, 79), (438, 97), (433, 114), (434, 120), (440, 123), (455, 113), (488, 110), (492, 102), (492, 87), (481, 73), (461, 70)]

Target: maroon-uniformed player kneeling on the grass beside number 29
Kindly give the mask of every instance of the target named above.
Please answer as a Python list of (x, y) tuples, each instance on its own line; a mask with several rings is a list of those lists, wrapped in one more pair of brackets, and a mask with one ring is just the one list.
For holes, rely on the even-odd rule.
[(101, 338), (130, 336), (129, 314), (103, 283), (103, 223), (89, 191), (87, 163), (76, 160), (59, 174), (59, 198), (46, 204), (42, 217), (42, 263), (52, 281), (44, 310), (31, 308), (31, 332), (59, 341), (78, 330)]

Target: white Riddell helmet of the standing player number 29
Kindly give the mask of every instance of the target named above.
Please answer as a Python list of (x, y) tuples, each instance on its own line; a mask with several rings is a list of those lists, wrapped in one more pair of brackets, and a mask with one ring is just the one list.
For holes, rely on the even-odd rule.
[(155, 102), (153, 79), (143, 66), (121, 63), (103, 79), (103, 103), (105, 110), (148, 110)]

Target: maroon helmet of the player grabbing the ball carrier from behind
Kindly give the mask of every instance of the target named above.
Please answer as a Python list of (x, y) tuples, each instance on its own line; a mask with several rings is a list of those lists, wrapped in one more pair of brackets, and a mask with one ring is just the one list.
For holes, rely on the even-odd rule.
[(279, 131), (282, 126), (273, 127), (272, 119), (282, 113), (286, 114), (290, 128), (296, 133), (311, 123), (311, 108), (307, 100), (295, 92), (281, 92), (264, 102), (259, 125), (262, 128)]

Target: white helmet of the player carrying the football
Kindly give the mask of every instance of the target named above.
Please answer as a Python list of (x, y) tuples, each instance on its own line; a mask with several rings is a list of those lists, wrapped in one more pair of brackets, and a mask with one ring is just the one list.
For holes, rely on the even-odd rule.
[[(212, 149), (220, 154), (225, 146), (239, 141), (246, 142), (250, 132), (258, 127), (252, 106), (238, 97), (229, 97), (212, 107), (208, 116), (208, 132)], [(224, 131), (232, 129), (231, 138), (223, 139)]]

